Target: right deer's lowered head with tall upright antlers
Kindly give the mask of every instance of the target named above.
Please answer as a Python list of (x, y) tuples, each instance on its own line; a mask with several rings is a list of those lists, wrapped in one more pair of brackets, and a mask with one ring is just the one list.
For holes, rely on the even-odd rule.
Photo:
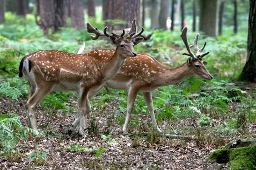
[[(198, 38), (199, 38), (199, 33), (196, 34), (196, 37), (194, 39), (194, 44), (189, 45), (188, 39), (187, 39), (187, 31), (188, 27), (184, 27), (182, 30), (182, 34), (180, 35), (189, 54), (184, 53), (183, 55), (188, 55), (190, 56), (187, 60), (188, 67), (190, 68), (190, 71), (192, 71), (193, 75), (203, 78), (203, 79), (208, 79), (212, 80), (213, 76), (209, 73), (209, 71), (205, 68), (205, 65), (208, 63), (207, 61), (202, 61), (203, 57), (209, 52), (201, 54), (201, 52), (204, 50), (206, 42), (202, 48), (198, 48)], [(190, 51), (190, 48), (195, 48), (196, 50), (196, 55), (193, 54)]]

